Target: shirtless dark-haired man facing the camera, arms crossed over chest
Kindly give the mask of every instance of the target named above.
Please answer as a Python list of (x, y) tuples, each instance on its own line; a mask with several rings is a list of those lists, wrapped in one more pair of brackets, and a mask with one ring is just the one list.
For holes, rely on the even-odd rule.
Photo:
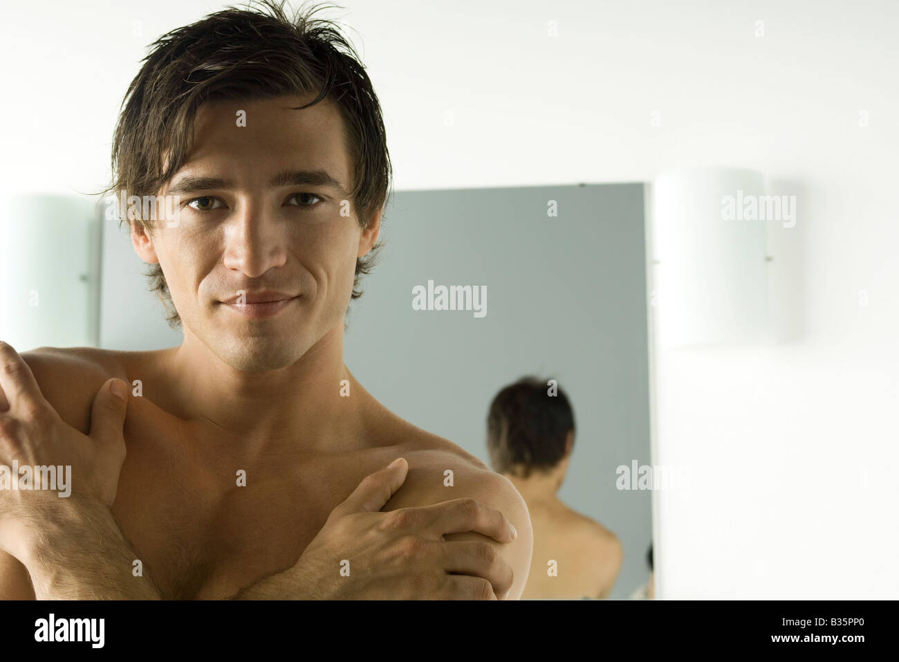
[(390, 175), (377, 96), (329, 23), (262, 9), (157, 40), (113, 141), (114, 190), (178, 201), (122, 214), (183, 344), (0, 345), (0, 464), (73, 471), (70, 499), (0, 491), (0, 597), (521, 595), (512, 483), (343, 364)]

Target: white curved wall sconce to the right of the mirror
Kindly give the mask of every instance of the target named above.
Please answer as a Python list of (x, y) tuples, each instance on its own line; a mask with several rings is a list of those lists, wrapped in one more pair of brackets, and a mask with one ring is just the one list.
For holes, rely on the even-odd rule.
[(761, 173), (672, 170), (655, 179), (652, 203), (659, 346), (768, 342)]

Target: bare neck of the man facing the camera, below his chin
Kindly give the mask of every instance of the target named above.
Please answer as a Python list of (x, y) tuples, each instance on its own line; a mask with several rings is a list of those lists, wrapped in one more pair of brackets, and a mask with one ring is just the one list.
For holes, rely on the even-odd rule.
[[(297, 362), (260, 372), (236, 370), (185, 329), (165, 370), (174, 413), (214, 425), (226, 439), (309, 451), (360, 445), (361, 415), (371, 397), (343, 363), (343, 322)], [(349, 397), (342, 396), (347, 390)]]

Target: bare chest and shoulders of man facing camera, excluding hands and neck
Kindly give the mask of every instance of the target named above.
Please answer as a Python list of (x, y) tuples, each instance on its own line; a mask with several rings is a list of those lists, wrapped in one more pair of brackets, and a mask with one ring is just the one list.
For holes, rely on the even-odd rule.
[[(352, 398), (365, 398), (364, 425), (339, 448), (310, 450), (307, 440), (297, 440), (272, 454), (265, 443), (237, 438), (211, 421), (175, 416), (178, 407), (166, 398), (174, 389), (159, 371), (165, 352), (170, 350), (42, 348), (23, 354), (44, 397), (82, 432), (90, 427), (93, 394), (105, 380), (140, 380), (142, 394), (129, 398), (128, 455), (112, 514), (163, 598), (227, 599), (291, 567), (360, 479), (399, 456), (409, 462), (408, 478), (383, 510), (483, 497), (496, 488), (509, 495), (506, 479), (456, 444), (391, 414), (358, 382), (352, 383)], [(454, 472), (453, 487), (444, 487), (445, 470)], [(245, 487), (238, 486), (240, 476)], [(523, 501), (521, 508), (526, 516)], [(507, 516), (528, 530), (521, 512)], [(0, 575), (16, 565), (19, 585), (27, 587), (25, 568), (0, 556), (6, 556)], [(516, 577), (511, 595), (525, 579)]]

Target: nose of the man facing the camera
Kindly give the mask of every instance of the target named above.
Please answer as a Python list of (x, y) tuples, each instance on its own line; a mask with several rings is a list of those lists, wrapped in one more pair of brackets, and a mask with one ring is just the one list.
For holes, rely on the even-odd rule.
[(225, 234), (224, 261), (228, 269), (255, 278), (286, 262), (287, 249), (277, 220), (263, 210), (245, 207), (228, 223)]

